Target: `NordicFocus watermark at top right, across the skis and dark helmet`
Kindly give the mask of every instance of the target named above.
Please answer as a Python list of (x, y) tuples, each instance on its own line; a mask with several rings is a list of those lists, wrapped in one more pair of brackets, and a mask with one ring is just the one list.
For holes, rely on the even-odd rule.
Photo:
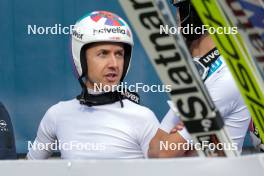
[(187, 24), (185, 27), (169, 27), (168, 25), (160, 25), (160, 34), (237, 34), (237, 27), (209, 27), (209, 25), (202, 25), (194, 27), (193, 24)]

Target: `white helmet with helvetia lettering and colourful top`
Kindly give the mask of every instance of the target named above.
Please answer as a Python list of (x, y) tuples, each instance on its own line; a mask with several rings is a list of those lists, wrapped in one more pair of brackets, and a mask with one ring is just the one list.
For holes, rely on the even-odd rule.
[(125, 49), (124, 71), (126, 76), (131, 61), (133, 36), (128, 24), (116, 14), (94, 11), (80, 18), (72, 31), (72, 57), (79, 78), (87, 75), (86, 46), (97, 42), (123, 43)]

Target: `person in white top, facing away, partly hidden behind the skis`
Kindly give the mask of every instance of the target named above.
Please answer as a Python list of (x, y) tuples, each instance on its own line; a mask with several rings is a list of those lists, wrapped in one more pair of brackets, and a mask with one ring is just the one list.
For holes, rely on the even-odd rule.
[[(203, 25), (190, 0), (172, 0), (172, 3), (177, 8), (177, 20), (182, 27), (192, 24), (195, 28)], [(193, 56), (193, 62), (224, 119), (230, 138), (237, 145), (238, 151), (241, 151), (250, 122), (250, 114), (224, 59), (208, 33), (183, 33), (183, 36)], [(205, 63), (203, 59), (208, 56), (210, 56), (210, 62)], [(170, 106), (169, 112), (163, 118), (160, 129), (151, 142), (149, 151), (151, 157), (175, 157), (182, 156), (186, 152), (183, 148), (160, 150), (160, 141), (170, 143), (191, 141), (186, 128), (175, 132), (174, 127), (180, 119), (173, 112), (173, 105)]]

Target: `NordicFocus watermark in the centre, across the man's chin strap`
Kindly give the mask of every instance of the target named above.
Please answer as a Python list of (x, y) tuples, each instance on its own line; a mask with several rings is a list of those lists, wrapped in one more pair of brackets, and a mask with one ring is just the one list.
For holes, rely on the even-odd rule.
[(93, 91), (95, 92), (114, 92), (124, 93), (125, 90), (130, 92), (171, 92), (171, 85), (148, 85), (144, 83), (136, 83), (128, 85), (127, 82), (122, 82), (118, 85), (104, 85), (102, 83), (94, 83)]

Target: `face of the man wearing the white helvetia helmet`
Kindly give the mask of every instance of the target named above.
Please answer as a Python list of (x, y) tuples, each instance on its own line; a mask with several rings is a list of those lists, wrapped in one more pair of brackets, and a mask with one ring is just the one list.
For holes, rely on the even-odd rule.
[(121, 43), (95, 43), (86, 50), (88, 79), (86, 85), (94, 89), (98, 86), (117, 85), (124, 68), (124, 45)]

